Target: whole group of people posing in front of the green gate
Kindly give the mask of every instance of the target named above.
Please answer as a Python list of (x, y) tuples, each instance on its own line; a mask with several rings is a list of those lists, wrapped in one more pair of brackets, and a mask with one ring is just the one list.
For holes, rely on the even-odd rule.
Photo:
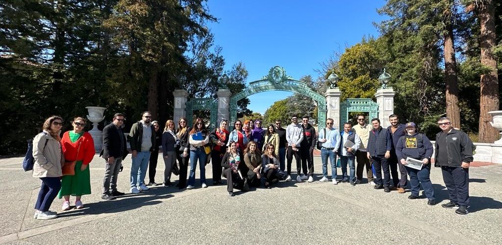
[[(266, 188), (271, 188), (280, 180), (291, 181), (293, 158), (296, 161), (296, 181), (313, 182), (313, 151), (317, 146), (322, 161), (320, 182), (329, 180), (329, 158), (334, 185), (339, 182), (348, 182), (351, 186), (360, 184), (365, 168), (367, 181), (374, 189), (405, 193), (410, 175), (411, 195), (408, 198), (419, 198), (422, 185), (427, 204), (436, 204), (429, 178), (432, 144), (425, 135), (417, 132), (414, 122), (400, 124), (399, 117), (393, 114), (390, 116), (391, 126), (385, 129), (378, 118), (371, 119), (371, 126), (367, 125), (361, 114), (357, 116), (357, 125), (352, 127), (346, 122), (343, 131), (338, 132), (333, 127), (333, 119), (328, 118), (326, 127), (317, 136), (308, 116), (303, 116), (301, 123), (298, 119), (293, 115), (286, 129), (281, 120), (266, 129), (262, 128), (261, 120), (236, 120), (231, 131), (227, 129), (229, 122), (223, 119), (218, 128), (209, 132), (203, 119), (196, 118), (190, 128), (187, 119), (181, 117), (178, 127), (175, 128), (173, 120), (167, 120), (161, 130), (159, 122), (152, 121), (152, 113), (145, 111), (126, 139), (122, 132), (126, 118), (122, 113), (115, 113), (112, 122), (103, 129), (100, 156), (105, 161), (105, 171), (101, 198), (113, 200), (125, 194), (117, 190), (117, 177), (122, 170), (122, 160), (129, 154), (129, 141), (132, 153), (129, 191), (133, 194), (158, 185), (155, 175), (160, 146), (165, 163), (163, 186), (173, 185), (171, 176), (174, 172), (179, 175), (179, 189), (195, 188), (198, 163), (200, 185), (206, 188), (205, 166), (210, 161), (213, 185), (223, 184), (222, 177), (226, 178), (229, 196), (234, 195), (234, 188), (247, 191), (249, 187), (261, 186), (262, 182)], [(79, 209), (83, 208), (81, 196), (91, 192), (88, 164), (94, 156), (94, 142), (90, 134), (83, 131), (84, 118), (75, 117), (71, 123), (73, 130), (65, 132), (61, 138), (63, 119), (51, 116), (44, 122), (43, 133), (33, 141), (33, 177), (42, 180), (35, 219), (57, 217), (49, 207), (58, 195), (64, 198), (62, 210), (70, 209), (70, 196), (75, 196), (75, 208)], [(473, 144), (465, 133), (452, 127), (449, 118), (440, 118), (438, 125), (441, 132), (436, 135), (435, 166), (442, 169), (450, 199), (442, 206), (458, 207), (457, 213), (466, 214), (469, 206), (468, 168), (473, 161)], [(337, 179), (337, 157), (341, 179)], [(74, 175), (63, 176), (61, 167), (65, 161), (76, 161)], [(149, 182), (145, 184), (147, 169)]]

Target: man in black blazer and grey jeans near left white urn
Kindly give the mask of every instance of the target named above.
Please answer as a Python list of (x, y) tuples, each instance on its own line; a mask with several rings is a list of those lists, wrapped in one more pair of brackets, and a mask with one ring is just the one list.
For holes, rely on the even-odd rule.
[(128, 154), (126, 137), (120, 127), (126, 121), (122, 113), (115, 113), (113, 121), (103, 129), (103, 149), (100, 157), (105, 160), (102, 199), (113, 200), (124, 193), (117, 191), (117, 176), (123, 158)]

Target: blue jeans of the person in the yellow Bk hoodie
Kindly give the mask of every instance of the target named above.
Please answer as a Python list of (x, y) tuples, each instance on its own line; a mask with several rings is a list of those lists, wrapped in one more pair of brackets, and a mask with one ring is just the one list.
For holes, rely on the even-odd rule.
[(420, 184), (422, 184), (422, 188), (424, 188), (424, 193), (427, 199), (436, 199), (434, 197), (434, 188), (432, 187), (430, 179), (431, 164), (424, 165), (421, 170), (406, 167), (406, 165), (405, 168), (410, 175), (411, 194), (418, 196)]

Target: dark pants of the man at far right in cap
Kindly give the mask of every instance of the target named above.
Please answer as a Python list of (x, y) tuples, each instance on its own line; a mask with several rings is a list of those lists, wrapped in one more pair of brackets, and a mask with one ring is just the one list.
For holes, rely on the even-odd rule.
[(469, 206), (469, 169), (442, 166), (441, 172), (450, 201)]

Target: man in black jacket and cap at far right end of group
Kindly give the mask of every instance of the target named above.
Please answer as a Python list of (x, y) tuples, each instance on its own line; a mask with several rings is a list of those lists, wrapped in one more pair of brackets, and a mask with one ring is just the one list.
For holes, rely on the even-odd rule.
[(441, 132), (436, 135), (435, 166), (441, 166), (444, 184), (450, 202), (444, 208), (458, 207), (458, 214), (467, 214), (469, 207), (469, 166), (472, 157), (472, 141), (467, 134), (453, 129), (448, 117), (438, 120)]

